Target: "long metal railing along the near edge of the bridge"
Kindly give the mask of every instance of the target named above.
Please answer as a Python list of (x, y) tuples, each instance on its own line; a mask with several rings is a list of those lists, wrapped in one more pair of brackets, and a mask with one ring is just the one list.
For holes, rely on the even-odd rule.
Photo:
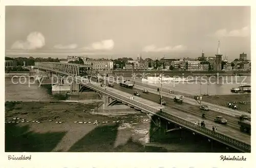
[[(52, 69), (49, 69), (49, 70), (52, 70)], [(54, 71), (56, 71), (56, 73), (57, 73), (58, 70), (54, 70)], [(88, 86), (88, 87), (90, 87), (90, 88), (92, 88), (92, 89), (94, 89), (96, 91), (100, 91), (102, 93), (108, 94), (108, 95), (110, 95), (111, 97), (113, 97), (115, 99), (119, 99), (120, 101), (123, 101), (123, 102), (126, 102), (126, 103), (130, 103), (130, 104), (132, 104), (134, 106), (137, 106), (138, 108), (141, 108), (143, 110), (151, 112), (151, 113), (153, 113), (155, 115), (162, 116), (162, 117), (164, 117), (166, 119), (169, 119), (170, 121), (173, 121), (173, 122), (175, 122), (178, 125), (181, 125), (183, 127), (186, 127), (188, 129), (196, 130), (198, 132), (201, 132), (201, 133), (204, 133), (206, 135), (209, 135), (212, 138), (219, 139), (222, 142), (226, 142), (228, 144), (232, 144), (234, 147), (237, 147), (237, 148), (242, 149), (244, 151), (250, 152), (250, 150), (251, 150), (251, 146), (248, 145), (247, 143), (244, 143), (244, 142), (241, 142), (239, 140), (233, 139), (231, 137), (228, 137), (226, 135), (220, 134), (218, 132), (211, 131), (211, 130), (209, 130), (207, 128), (200, 127), (198, 125), (195, 125), (194, 123), (186, 121), (185, 119), (183, 119), (181, 117), (178, 117), (178, 116), (166, 113), (166, 112), (164, 112), (164, 110), (162, 112), (160, 112), (158, 109), (156, 109), (154, 107), (145, 105), (145, 104), (143, 104), (141, 102), (138, 102), (136, 100), (129, 99), (129, 98), (124, 97), (123, 95), (117, 94), (115, 92), (112, 92), (112, 91), (109, 91), (109, 90), (105, 90), (105, 89), (103, 89), (103, 88), (101, 88), (99, 86), (95, 86), (95, 85), (90, 84), (90, 83), (84, 84), (81, 81), (77, 81), (77, 82), (79, 82), (80, 84), (86, 85), (86, 86)]]

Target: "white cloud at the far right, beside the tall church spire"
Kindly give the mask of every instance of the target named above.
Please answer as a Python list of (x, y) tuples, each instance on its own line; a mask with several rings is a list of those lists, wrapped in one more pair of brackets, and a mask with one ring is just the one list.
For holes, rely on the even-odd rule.
[(244, 27), (242, 29), (236, 29), (227, 31), (226, 29), (220, 29), (216, 31), (213, 35), (210, 36), (217, 36), (217, 37), (247, 37), (250, 35), (250, 30), (248, 27)]

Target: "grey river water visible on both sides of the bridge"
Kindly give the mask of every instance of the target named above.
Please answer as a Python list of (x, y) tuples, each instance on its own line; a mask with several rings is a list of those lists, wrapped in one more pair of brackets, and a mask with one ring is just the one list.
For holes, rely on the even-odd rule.
[[(208, 82), (206, 82), (206, 80)], [(141, 82), (141, 79), (136, 79)], [(5, 78), (5, 100), (6, 101), (54, 101), (66, 100), (63, 95), (53, 95), (51, 93), (51, 86), (38, 87), (37, 83), (29, 82), (28, 78), (21, 81), (14, 80), (18, 84), (14, 84), (11, 78)], [(21, 84), (24, 83), (24, 84)], [(31, 84), (29, 84), (31, 83)], [(142, 82), (148, 85), (155, 85), (160, 88), (160, 82)], [(230, 88), (238, 87), (240, 85), (250, 85), (251, 76), (235, 77), (227, 76), (216, 80), (212, 78), (202, 79), (201, 93), (202, 94), (238, 94), (230, 92)], [(200, 78), (190, 82), (163, 82), (163, 88), (172, 89), (187, 94), (200, 93)]]

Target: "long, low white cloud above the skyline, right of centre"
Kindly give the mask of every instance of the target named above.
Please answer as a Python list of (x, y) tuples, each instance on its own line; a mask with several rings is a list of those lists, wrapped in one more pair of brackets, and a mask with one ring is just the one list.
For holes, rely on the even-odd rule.
[(187, 47), (184, 45), (176, 45), (172, 46), (165, 46), (165, 47), (156, 47), (155, 45), (147, 45), (145, 46), (142, 51), (143, 52), (172, 52), (172, 51), (183, 51), (186, 50)]

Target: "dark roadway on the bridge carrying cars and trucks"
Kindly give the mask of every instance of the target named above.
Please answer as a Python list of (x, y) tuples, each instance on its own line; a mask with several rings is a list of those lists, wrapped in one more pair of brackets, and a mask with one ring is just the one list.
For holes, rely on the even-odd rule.
[[(96, 79), (92, 79), (92, 80), (96, 81)], [(114, 84), (114, 88), (130, 94), (133, 94), (134, 91), (138, 90), (141, 92), (141, 95), (140, 95), (141, 98), (147, 99), (153, 102), (158, 102), (160, 97), (160, 95), (156, 95), (153, 93), (143, 93), (139, 89), (135, 89), (135, 88), (130, 89), (130, 88), (121, 87), (116, 83)], [(203, 120), (201, 117), (203, 111), (199, 109), (199, 105), (191, 105), (185, 102), (183, 102), (182, 104), (179, 104), (179, 103), (175, 103), (173, 99), (170, 99), (170, 98), (164, 98), (164, 100), (166, 102), (165, 107), (166, 109), (170, 109), (169, 111), (172, 111), (171, 114), (173, 114), (173, 111), (175, 109), (177, 111), (180, 111), (180, 113), (176, 112), (178, 116), (181, 116), (181, 115), (183, 116), (183, 114), (181, 113), (182, 111), (188, 114), (188, 116), (184, 115), (185, 118), (188, 118), (188, 117), (191, 118), (191, 116), (194, 116), (194, 118), (196, 119), (195, 122)], [(218, 115), (221, 115), (224, 118), (226, 118), (228, 121), (228, 124), (220, 125), (218, 123), (214, 123), (214, 118)], [(250, 143), (250, 135), (240, 131), (240, 128), (238, 125), (239, 119), (236, 117), (232, 117), (230, 115), (223, 114), (218, 111), (209, 110), (206, 112), (206, 119), (204, 119), (204, 121), (205, 123), (209, 124), (211, 127), (212, 125), (216, 126), (218, 128), (218, 132), (223, 132), (224, 134), (230, 135), (232, 137), (236, 137), (237, 139), (241, 139), (244, 142)]]

